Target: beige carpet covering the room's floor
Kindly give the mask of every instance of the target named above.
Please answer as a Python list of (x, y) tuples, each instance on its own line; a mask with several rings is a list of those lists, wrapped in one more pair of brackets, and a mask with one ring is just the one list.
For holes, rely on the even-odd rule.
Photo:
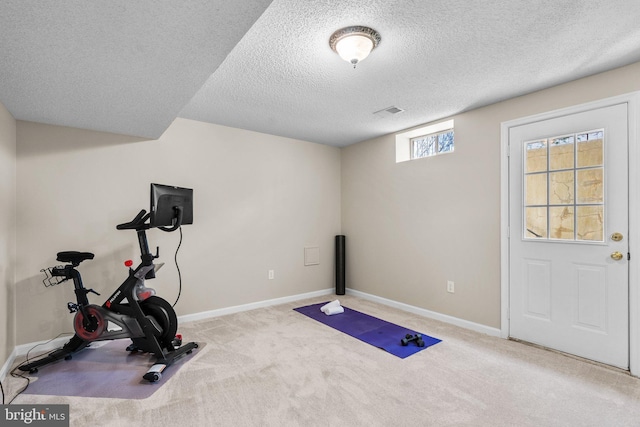
[[(207, 346), (145, 400), (14, 403), (68, 403), (72, 426), (640, 425), (640, 380), (624, 372), (340, 297), (443, 340), (399, 359), (292, 310), (329, 299), (181, 325)], [(9, 393), (22, 384), (5, 381)]]

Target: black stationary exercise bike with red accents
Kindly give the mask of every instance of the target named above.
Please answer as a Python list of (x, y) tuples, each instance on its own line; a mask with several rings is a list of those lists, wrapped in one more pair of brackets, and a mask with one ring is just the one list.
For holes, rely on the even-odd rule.
[[(156, 184), (152, 184), (152, 191), (153, 185)], [(183, 207), (173, 206), (172, 209), (175, 212), (173, 226), (158, 227), (163, 231), (174, 231), (182, 225)], [(141, 263), (135, 269), (129, 263), (129, 276), (102, 306), (89, 303), (89, 293), (100, 294), (84, 287), (80, 272), (76, 269), (83, 261), (93, 259), (94, 254), (77, 251), (57, 254), (58, 261), (68, 264), (47, 269), (49, 276), (45, 280), (49, 285), (73, 280), (76, 302), (69, 302), (67, 308), (70, 313), (75, 313), (75, 335), (62, 348), (52, 351), (42, 359), (19, 366), (21, 371), (36, 373), (41, 366), (60, 359), (69, 360), (74, 353), (94, 341), (130, 338), (132, 343), (126, 348), (127, 351), (152, 353), (156, 357), (155, 364), (143, 376), (143, 379), (155, 382), (162, 378), (162, 372), (167, 366), (198, 348), (195, 342), (182, 343), (181, 337), (176, 336), (178, 319), (173, 307), (155, 296), (154, 289), (144, 285), (145, 279), (155, 277), (153, 260), (159, 256), (159, 249), (156, 249), (155, 255), (149, 252), (146, 230), (152, 228), (152, 224), (147, 222), (150, 216), (151, 213), (143, 209), (132, 221), (116, 227), (118, 230), (136, 230)], [(110, 324), (117, 326), (114, 328)]]

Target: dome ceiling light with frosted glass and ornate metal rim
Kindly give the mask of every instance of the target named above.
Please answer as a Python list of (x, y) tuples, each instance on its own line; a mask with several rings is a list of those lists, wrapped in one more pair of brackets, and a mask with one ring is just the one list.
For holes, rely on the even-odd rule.
[(331, 35), (329, 46), (342, 59), (356, 64), (369, 56), (380, 44), (380, 33), (369, 27), (353, 26), (342, 28)]

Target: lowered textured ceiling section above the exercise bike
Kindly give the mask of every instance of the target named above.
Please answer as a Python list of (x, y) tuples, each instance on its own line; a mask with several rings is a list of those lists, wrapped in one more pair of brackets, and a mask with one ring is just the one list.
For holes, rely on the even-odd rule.
[(271, 0), (1, 0), (19, 120), (158, 138)]

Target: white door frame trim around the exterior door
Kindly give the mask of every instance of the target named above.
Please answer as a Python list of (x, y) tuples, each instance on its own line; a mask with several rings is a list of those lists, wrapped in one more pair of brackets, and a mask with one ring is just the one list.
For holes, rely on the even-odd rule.
[(500, 336), (509, 338), (509, 130), (512, 127), (549, 120), (597, 108), (627, 104), (629, 156), (629, 371), (640, 377), (640, 91), (561, 108), (500, 124)]

